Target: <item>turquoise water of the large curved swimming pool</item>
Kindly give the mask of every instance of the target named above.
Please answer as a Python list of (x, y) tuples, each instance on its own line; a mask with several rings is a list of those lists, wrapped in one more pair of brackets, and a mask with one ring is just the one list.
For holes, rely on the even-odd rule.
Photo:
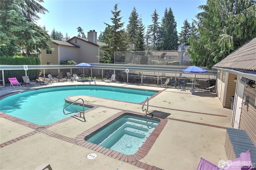
[[(0, 111), (35, 123), (48, 125), (76, 113), (65, 115), (63, 108), (68, 96), (87, 95), (125, 102), (143, 102), (157, 91), (137, 90), (110, 86), (58, 86), (40, 88), (13, 94), (0, 100)], [(91, 107), (86, 106), (86, 109)], [(82, 110), (81, 106), (68, 107), (67, 111)]]

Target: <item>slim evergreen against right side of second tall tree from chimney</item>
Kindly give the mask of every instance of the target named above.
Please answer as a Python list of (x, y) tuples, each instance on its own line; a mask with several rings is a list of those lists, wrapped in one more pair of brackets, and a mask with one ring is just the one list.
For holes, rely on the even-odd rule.
[(138, 19), (138, 29), (136, 29), (134, 36), (134, 51), (145, 51), (144, 30), (145, 26), (143, 25), (142, 18), (140, 17)]

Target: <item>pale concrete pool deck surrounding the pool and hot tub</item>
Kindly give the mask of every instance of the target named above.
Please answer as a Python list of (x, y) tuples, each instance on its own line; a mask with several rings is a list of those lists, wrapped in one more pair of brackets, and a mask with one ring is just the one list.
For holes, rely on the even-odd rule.
[[(161, 120), (161, 126), (150, 135), (151, 139), (137, 152), (137, 157), (125, 156), (98, 145), (86, 145), (80, 139), (99, 123), (106, 123), (118, 114), (144, 114), (142, 104), (81, 96), (87, 104), (95, 106), (85, 114), (86, 122), (68, 117), (42, 127), (0, 113), (0, 169), (34, 170), (47, 163), (53, 170), (192, 170), (197, 168), (200, 156), (214, 164), (227, 160), (225, 128), (231, 127), (232, 111), (221, 106), (216, 94), (136, 84), (96, 83), (160, 91), (150, 98), (149, 111), (158, 110), (171, 115)], [(58, 82), (31, 88), (74, 84), (89, 83)], [(0, 90), (1, 96), (30, 89), (29, 86), (6, 88)], [(97, 157), (90, 160), (87, 155), (92, 152)]]

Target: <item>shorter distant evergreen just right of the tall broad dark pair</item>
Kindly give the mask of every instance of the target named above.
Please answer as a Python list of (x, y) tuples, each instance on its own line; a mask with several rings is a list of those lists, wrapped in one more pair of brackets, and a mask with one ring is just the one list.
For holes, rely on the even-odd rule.
[(188, 43), (188, 38), (190, 37), (190, 33), (191, 33), (190, 23), (188, 22), (188, 20), (185, 20), (183, 22), (183, 27), (181, 27), (181, 31), (180, 31), (180, 36), (179, 36), (180, 45), (190, 45)]

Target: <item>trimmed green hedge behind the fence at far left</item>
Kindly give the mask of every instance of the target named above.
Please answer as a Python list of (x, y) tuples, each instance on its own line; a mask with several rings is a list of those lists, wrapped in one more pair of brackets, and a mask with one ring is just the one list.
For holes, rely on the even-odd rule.
[[(0, 57), (0, 64), (2, 65), (40, 65), (40, 60), (38, 57)], [(39, 77), (40, 70), (27, 70), (27, 76), (29, 76), (30, 81)], [(19, 82), (23, 82), (22, 76), (25, 76), (25, 70), (4, 70), (4, 80), (8, 81), (8, 77), (16, 77)], [(0, 79), (2, 79), (2, 74), (0, 74)]]

